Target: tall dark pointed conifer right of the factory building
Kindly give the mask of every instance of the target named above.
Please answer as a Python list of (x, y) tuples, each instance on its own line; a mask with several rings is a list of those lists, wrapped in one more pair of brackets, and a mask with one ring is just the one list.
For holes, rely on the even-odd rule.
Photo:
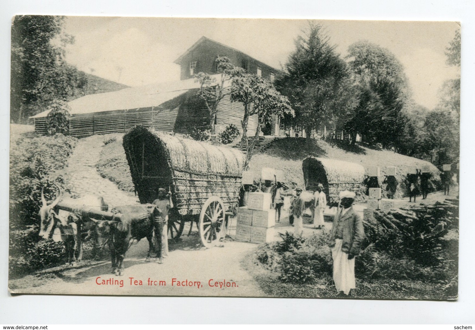
[(323, 26), (309, 22), (303, 32), (275, 84), (289, 98), (295, 110), (293, 123), (305, 128), (310, 143), (313, 128), (322, 124), (336, 128), (355, 99), (347, 65), (335, 52)]

